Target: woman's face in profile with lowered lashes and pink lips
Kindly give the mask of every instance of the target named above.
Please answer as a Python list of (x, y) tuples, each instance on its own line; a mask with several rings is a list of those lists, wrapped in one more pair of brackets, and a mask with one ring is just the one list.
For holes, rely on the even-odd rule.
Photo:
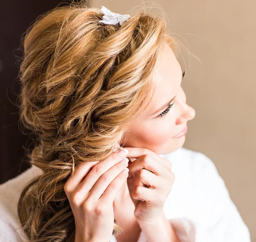
[[(180, 133), (187, 121), (195, 117), (195, 110), (186, 104), (186, 95), (180, 86), (182, 76), (180, 63), (166, 44), (154, 72), (156, 89), (153, 98), (146, 109), (132, 121), (130, 133), (122, 137), (124, 147), (143, 147), (160, 155), (172, 153), (183, 146), (185, 135), (180, 138), (172, 137)], [(169, 112), (166, 110), (168, 105)], [(164, 110), (167, 113), (162, 116)]]

